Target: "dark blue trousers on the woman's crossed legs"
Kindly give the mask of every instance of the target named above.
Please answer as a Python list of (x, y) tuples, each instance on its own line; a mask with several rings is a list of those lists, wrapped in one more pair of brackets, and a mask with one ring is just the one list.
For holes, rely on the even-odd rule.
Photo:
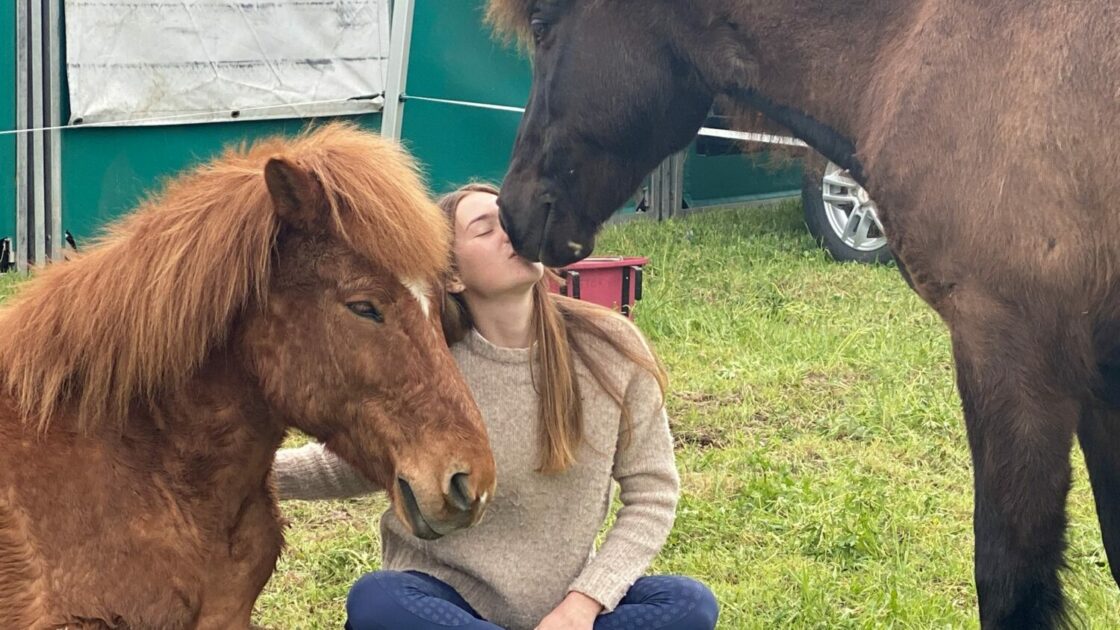
[[(363, 575), (346, 599), (347, 630), (501, 630), (482, 618), (455, 589), (418, 571)], [(719, 604), (690, 577), (641, 577), (595, 630), (712, 630)]]

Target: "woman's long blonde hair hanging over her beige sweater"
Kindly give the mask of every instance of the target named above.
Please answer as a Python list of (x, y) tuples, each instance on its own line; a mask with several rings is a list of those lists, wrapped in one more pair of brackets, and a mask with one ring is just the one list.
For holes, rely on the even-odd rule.
[[(440, 197), (439, 206), (447, 214), (452, 230), (459, 203), (472, 193), (497, 195), (498, 188), (491, 184), (467, 184)], [(454, 267), (452, 261), (452, 272), (456, 272)], [(550, 281), (561, 280), (554, 271), (547, 269), (533, 287), (532, 323), (532, 341), (536, 344), (538, 358), (532, 376), (533, 386), (540, 395), (541, 423), (540, 464), (536, 470), (548, 474), (560, 473), (571, 466), (584, 439), (584, 405), (576, 374), (577, 358), (596, 383), (618, 405), (627, 437), (631, 430), (631, 413), (623, 399), (625, 392), (612, 385), (588, 342), (599, 341), (648, 372), (657, 381), (662, 399), (668, 382), (661, 363), (636, 336), (636, 331), (634, 339), (624, 339), (605, 325), (620, 315), (603, 306), (556, 295), (549, 290)], [(447, 290), (444, 291), (441, 321), (449, 344), (461, 341), (474, 328), (470, 311), (461, 295)]]

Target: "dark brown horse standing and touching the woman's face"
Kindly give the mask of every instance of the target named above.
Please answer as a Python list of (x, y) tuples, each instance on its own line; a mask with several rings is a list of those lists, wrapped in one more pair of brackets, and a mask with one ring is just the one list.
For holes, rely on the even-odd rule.
[(533, 49), (501, 198), (517, 250), (599, 225), (715, 99), (849, 169), (952, 333), (986, 628), (1064, 617), (1079, 436), (1120, 581), (1120, 4), (492, 0)]

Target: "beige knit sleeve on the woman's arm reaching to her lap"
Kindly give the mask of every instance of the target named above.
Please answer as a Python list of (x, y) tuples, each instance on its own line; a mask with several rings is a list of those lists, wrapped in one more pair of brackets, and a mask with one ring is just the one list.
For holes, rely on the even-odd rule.
[(673, 527), (680, 478), (669, 432), (669, 417), (656, 380), (643, 370), (626, 390), (629, 439), (620, 430), (613, 476), (622, 508), (599, 552), (570, 591), (584, 593), (609, 612), (650, 567)]

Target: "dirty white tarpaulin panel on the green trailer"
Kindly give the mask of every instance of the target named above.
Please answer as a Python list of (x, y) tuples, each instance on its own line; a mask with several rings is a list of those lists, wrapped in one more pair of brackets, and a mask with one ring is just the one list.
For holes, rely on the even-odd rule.
[(65, 2), (72, 123), (304, 118), (382, 102), (389, 0)]

